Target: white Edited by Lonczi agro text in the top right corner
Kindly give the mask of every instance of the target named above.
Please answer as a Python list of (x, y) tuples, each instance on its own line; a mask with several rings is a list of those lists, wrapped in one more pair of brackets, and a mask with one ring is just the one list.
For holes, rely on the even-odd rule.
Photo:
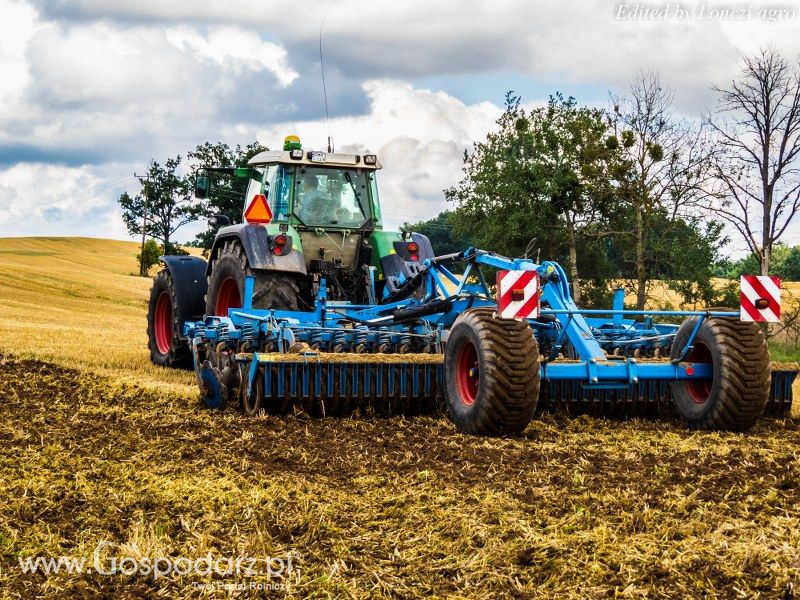
[(700, 2), (618, 2), (614, 18), (618, 21), (767, 21), (796, 19), (796, 4), (755, 4)]

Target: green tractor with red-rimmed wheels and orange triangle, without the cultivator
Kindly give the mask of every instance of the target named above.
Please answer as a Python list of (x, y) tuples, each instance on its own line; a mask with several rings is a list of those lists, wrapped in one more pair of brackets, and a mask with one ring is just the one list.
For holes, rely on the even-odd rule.
[(191, 368), (182, 323), (241, 307), (249, 275), (253, 308), (313, 310), (322, 282), (332, 302), (376, 304), (407, 294), (403, 283), (434, 253), (424, 235), (383, 229), (380, 168), (374, 154), (307, 151), (289, 136), (283, 150), (261, 152), (245, 168), (200, 169), (198, 198), (214, 191), (219, 174), (247, 179), (244, 222), (211, 219), (220, 228), (207, 263), (163, 257), (148, 315), (152, 361)]

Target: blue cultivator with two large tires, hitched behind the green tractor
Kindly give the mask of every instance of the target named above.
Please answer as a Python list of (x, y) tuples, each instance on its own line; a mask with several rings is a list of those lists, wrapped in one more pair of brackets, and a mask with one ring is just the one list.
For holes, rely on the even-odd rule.
[[(527, 305), (530, 315), (501, 318), (486, 268), (533, 275), (533, 285), (510, 292), (510, 309)], [(409, 414), (432, 410), (443, 393), (463, 430), (507, 434), (527, 425), (540, 385), (551, 399), (567, 390), (661, 396), (671, 387), (691, 425), (733, 429), (751, 425), (769, 394), (763, 336), (738, 312), (626, 311), (621, 293), (609, 311), (581, 310), (553, 262), (470, 248), (424, 260), (384, 304), (329, 301), (322, 280), (313, 311), (254, 309), (253, 285), (248, 277), (243, 306), (227, 316), (184, 324), (209, 406), (240, 391), (247, 413), (300, 404), (336, 415), (371, 404)]]

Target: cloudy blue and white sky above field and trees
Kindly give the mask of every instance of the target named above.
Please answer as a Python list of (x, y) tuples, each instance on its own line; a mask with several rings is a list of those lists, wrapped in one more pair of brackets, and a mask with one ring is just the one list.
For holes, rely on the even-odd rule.
[(0, 0), (0, 236), (129, 239), (117, 198), (151, 158), (289, 134), (324, 149), (329, 132), (380, 157), (387, 225), (433, 217), (507, 91), (604, 106), (654, 70), (699, 118), (742, 53), (800, 52), (799, 15), (800, 2)]

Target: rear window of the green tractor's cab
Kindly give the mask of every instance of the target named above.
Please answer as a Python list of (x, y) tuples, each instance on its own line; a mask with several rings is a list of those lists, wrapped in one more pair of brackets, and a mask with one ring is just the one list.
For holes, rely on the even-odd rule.
[(367, 220), (369, 191), (361, 169), (304, 167), (295, 183), (294, 214), (311, 227), (360, 227)]

